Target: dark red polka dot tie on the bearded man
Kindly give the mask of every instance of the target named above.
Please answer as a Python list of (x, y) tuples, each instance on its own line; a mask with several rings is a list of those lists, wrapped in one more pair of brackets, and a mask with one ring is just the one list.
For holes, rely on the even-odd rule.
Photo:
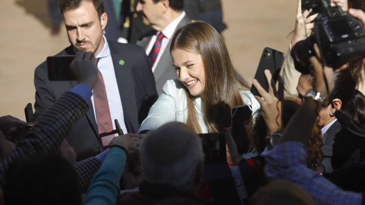
[[(95, 58), (95, 65), (99, 62), (100, 58)], [(97, 83), (93, 89), (94, 105), (97, 130), (100, 133), (111, 132), (113, 130), (112, 118), (110, 116), (110, 109), (107, 97), (107, 91), (105, 90), (105, 84), (103, 76), (99, 69), (97, 69)], [(108, 146), (110, 141), (114, 138), (114, 135), (109, 135), (101, 138), (103, 146)]]

